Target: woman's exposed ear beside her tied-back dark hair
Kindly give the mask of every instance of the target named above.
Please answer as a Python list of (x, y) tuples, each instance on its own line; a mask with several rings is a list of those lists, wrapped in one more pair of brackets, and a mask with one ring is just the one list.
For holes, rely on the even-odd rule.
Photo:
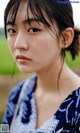
[(62, 48), (68, 48), (71, 45), (72, 41), (73, 41), (74, 30), (71, 27), (66, 28), (62, 32), (62, 35), (63, 35)]

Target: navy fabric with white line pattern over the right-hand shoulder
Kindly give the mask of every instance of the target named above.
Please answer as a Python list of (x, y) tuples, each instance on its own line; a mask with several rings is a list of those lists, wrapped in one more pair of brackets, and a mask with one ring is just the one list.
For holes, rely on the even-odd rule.
[[(57, 129), (79, 132), (80, 127), (80, 87), (74, 90), (62, 103), (56, 115), (59, 120)], [(64, 118), (64, 119), (63, 119)]]

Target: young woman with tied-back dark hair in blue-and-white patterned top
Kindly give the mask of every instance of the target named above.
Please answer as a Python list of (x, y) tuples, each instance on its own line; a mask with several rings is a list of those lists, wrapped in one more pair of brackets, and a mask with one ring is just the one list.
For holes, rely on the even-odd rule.
[(24, 73), (3, 118), (11, 133), (79, 133), (80, 78), (64, 61), (79, 52), (70, 1), (10, 0), (4, 14), (9, 48)]

